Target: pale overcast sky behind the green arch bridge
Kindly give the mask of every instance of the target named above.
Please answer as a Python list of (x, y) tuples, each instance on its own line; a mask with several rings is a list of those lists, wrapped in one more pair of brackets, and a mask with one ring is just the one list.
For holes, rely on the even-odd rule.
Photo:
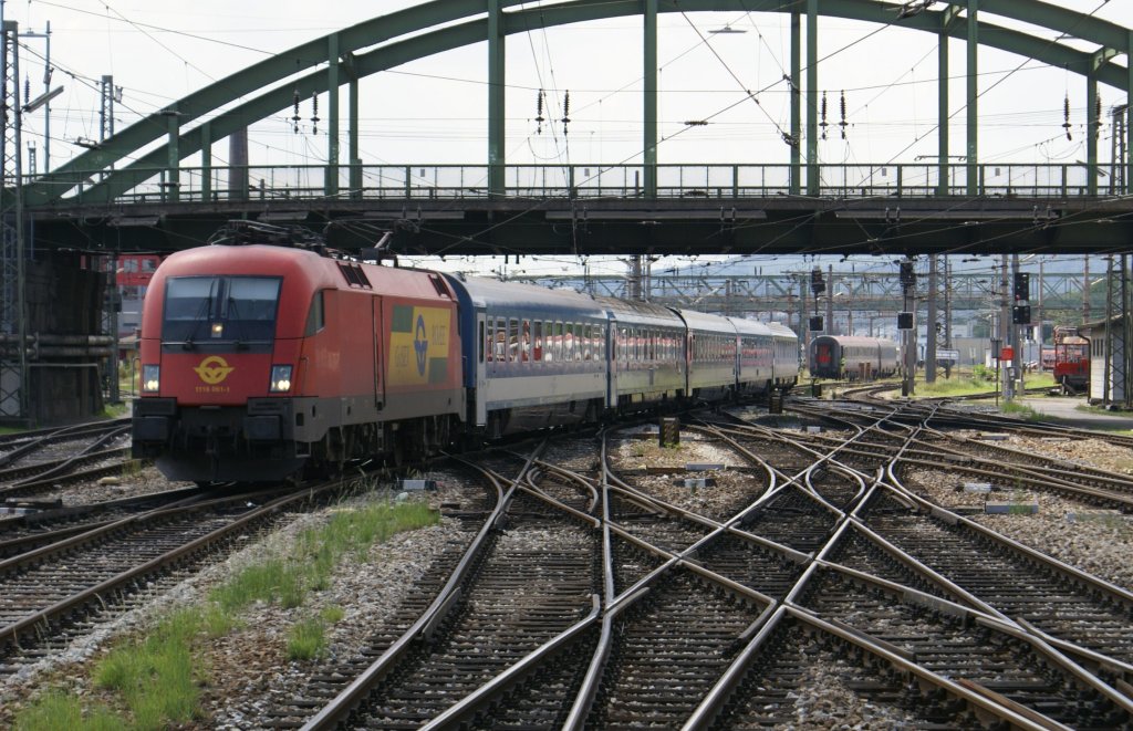
[[(100, 136), (97, 81), (112, 75), (121, 87), (114, 126), (138, 119), (271, 54), (335, 29), (418, 5), (406, 0), (8, 0), (3, 17), (16, 20), (31, 95), (44, 91), (50, 23), (51, 163)], [(1059, 0), (1057, 5), (1133, 27), (1130, 0)], [(536, 8), (538, 2), (527, 3)], [(937, 3), (939, 9), (943, 3)], [(896, 15), (896, 14), (894, 14)], [(1056, 33), (1020, 26), (989, 14), (981, 19), (1023, 27), (1055, 42)], [(721, 28), (742, 33), (713, 33)], [(790, 149), (790, 20), (783, 14), (663, 14), (659, 18), (659, 134), (662, 163), (785, 164)], [(1083, 48), (1081, 42), (1063, 42)], [(365, 79), (360, 120), (367, 164), (482, 165), (487, 157), (486, 45), (477, 44)], [(826, 93), (824, 163), (876, 166), (913, 162), (937, 152), (936, 38), (900, 27), (819, 19), (819, 89)], [(964, 44), (951, 44), (952, 149), (964, 149)], [(1118, 63), (1124, 63), (1122, 58)], [(990, 49), (980, 58), (980, 158), (982, 162), (1073, 163), (1085, 158), (1085, 84), (1082, 77)], [(514, 35), (506, 51), (506, 140), (511, 164), (632, 163), (641, 160), (641, 18), (535, 28)], [(540, 124), (539, 89), (544, 108)], [(755, 98), (751, 93), (755, 92)], [(564, 110), (566, 100), (569, 110)], [(343, 94), (343, 104), (344, 104)], [(1124, 93), (1102, 87), (1107, 112)], [(845, 106), (845, 137), (841, 134)], [(253, 164), (317, 164), (326, 158), (326, 101), (315, 129), (310, 100), (300, 103), (299, 132), (282, 110), (252, 131)], [(1064, 105), (1068, 102), (1070, 117)], [(27, 115), (34, 118), (35, 114)], [(562, 118), (570, 122), (563, 124)], [(690, 126), (689, 121), (707, 121)], [(1071, 123), (1070, 139), (1064, 122)], [(42, 122), (27, 119), (25, 143), (42, 161)], [(1111, 126), (1099, 148), (1108, 158)], [(343, 150), (346, 148), (343, 140)], [(213, 150), (223, 165), (225, 144)], [(344, 155), (344, 152), (343, 152)], [(186, 164), (199, 164), (186, 161)], [(42, 170), (42, 162), (41, 162)], [(594, 260), (596, 273), (623, 273), (616, 259)], [(671, 266), (662, 261), (658, 266)], [(758, 266), (758, 261), (756, 261)], [(449, 263), (452, 266), (459, 264)], [(472, 266), (468, 263), (468, 266)], [(502, 261), (475, 265), (497, 269)], [(559, 260), (509, 264), (511, 274), (561, 269)]]

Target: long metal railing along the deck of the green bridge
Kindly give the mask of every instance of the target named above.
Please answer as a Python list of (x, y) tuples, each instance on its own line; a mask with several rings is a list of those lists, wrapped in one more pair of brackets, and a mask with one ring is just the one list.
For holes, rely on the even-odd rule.
[[(940, 184), (935, 164), (819, 165), (819, 196), (835, 199), (966, 196), (968, 169), (949, 167)], [(1088, 195), (1085, 164), (988, 163), (977, 166), (978, 195), (1065, 198)], [(54, 205), (105, 204), (107, 188), (129, 187), (112, 203), (220, 203), (263, 200), (448, 200), (491, 197), (487, 165), (264, 165), (125, 170), (86, 175)], [(1121, 194), (1102, 179), (1099, 194)], [(36, 179), (27, 178), (28, 182)], [(122, 183), (121, 181), (126, 181)], [(772, 198), (792, 192), (786, 164), (665, 164), (657, 167), (664, 199)], [(117, 183), (114, 181), (118, 181)], [(1107, 187), (1108, 186), (1108, 187)], [(645, 196), (642, 165), (506, 165), (504, 196), (531, 199), (625, 199)]]

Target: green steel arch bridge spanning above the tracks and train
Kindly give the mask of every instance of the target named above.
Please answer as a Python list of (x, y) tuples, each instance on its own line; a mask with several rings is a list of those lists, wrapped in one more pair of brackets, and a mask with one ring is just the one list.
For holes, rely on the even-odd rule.
[[(304, 43), (169, 104), (44, 174), (20, 172), (20, 113), (5, 128), (6, 260), (31, 246), (169, 251), (204, 243), (225, 221), (301, 223), (332, 246), (406, 253), (1083, 252), (1130, 241), (1130, 109), (1115, 113), (1111, 160), (1097, 135), (1085, 161), (980, 162), (979, 46), (1084, 77), (1087, 128), (1099, 87), (1133, 97), (1133, 28), (1036, 0), (434, 0)], [(732, 164), (658, 161), (658, 17), (742, 11), (790, 17), (790, 129), (782, 160)], [(514, 165), (504, 155), (505, 53), (536, 28), (640, 17), (640, 162)], [(936, 38), (937, 150), (931, 162), (830, 165), (818, 157), (819, 19), (844, 18)], [(1003, 25), (1055, 32), (1051, 41)], [(1008, 23), (1011, 25), (1011, 23)], [(1016, 26), (1019, 27), (1019, 26)], [(15, 24), (5, 24), (9, 109), (19, 110)], [(1072, 36), (1072, 37), (1071, 37)], [(1073, 41), (1073, 42), (1072, 42)], [(957, 42), (957, 43), (951, 43)], [(485, 156), (470, 163), (374, 165), (358, 141), (359, 79), (486, 43)], [(1082, 50), (1083, 45), (1092, 50)], [(949, 98), (949, 48), (965, 54), (966, 92)], [(325, 95), (324, 165), (214, 165), (213, 145)], [(346, 100), (342, 96), (346, 95)], [(412, 103), (410, 100), (409, 103)], [(964, 114), (951, 114), (949, 109)], [(219, 113), (223, 112), (223, 113)], [(963, 119), (960, 119), (960, 118)], [(963, 128), (965, 147), (949, 147)], [(959, 129), (956, 130), (959, 132)], [(959, 134), (957, 134), (959, 137)], [(962, 152), (963, 163), (953, 163)], [(197, 165), (187, 160), (199, 161)], [(315, 181), (315, 182), (312, 182)], [(366, 226), (351, 225), (365, 221)], [(27, 233), (32, 231), (34, 234)], [(359, 231), (364, 233), (359, 233)], [(34, 238), (35, 241), (31, 241)], [(39, 241), (39, 243), (36, 243)], [(11, 268), (11, 267), (9, 267)]]

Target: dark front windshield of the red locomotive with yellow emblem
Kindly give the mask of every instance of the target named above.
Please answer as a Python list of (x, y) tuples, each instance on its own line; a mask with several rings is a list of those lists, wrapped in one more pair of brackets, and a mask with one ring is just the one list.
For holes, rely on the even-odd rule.
[(280, 277), (193, 276), (165, 282), (161, 339), (187, 350), (208, 345), (270, 346)]

